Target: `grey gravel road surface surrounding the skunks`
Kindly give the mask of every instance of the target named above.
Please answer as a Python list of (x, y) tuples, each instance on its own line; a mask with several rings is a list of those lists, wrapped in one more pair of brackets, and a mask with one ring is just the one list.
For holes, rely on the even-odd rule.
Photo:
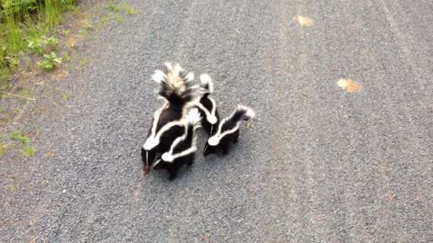
[[(0, 242), (432, 242), (433, 2), (397, 2), (129, 0), (38, 121), (54, 157), (15, 172)], [(139, 152), (164, 61), (258, 115), (171, 183)]]

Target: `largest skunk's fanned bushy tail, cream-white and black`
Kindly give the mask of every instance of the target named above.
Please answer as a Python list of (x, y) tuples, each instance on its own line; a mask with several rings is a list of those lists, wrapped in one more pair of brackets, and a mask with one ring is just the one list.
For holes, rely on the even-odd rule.
[(173, 67), (165, 63), (164, 70), (156, 70), (152, 80), (161, 85), (158, 94), (170, 103), (188, 103), (194, 98), (195, 87), (191, 82), (194, 74), (185, 71), (179, 64)]

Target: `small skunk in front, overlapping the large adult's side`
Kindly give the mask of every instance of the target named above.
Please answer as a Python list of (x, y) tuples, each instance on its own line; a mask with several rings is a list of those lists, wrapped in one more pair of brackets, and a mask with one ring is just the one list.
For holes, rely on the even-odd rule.
[(180, 166), (192, 165), (194, 162), (196, 147), (196, 130), (200, 127), (201, 120), (198, 109), (191, 109), (188, 113), (182, 136), (176, 138), (170, 146), (170, 150), (163, 153), (161, 158), (153, 164), (154, 169), (165, 169), (170, 173), (169, 180), (176, 178)]

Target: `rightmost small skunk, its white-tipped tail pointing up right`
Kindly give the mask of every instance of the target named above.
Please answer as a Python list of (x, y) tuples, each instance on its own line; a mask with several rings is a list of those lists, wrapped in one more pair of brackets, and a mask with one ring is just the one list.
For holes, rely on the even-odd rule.
[(217, 149), (222, 149), (223, 154), (226, 154), (231, 143), (236, 143), (239, 138), (239, 124), (241, 121), (248, 121), (252, 119), (254, 115), (251, 108), (239, 104), (235, 112), (219, 123), (217, 132), (207, 139), (207, 144), (203, 149), (203, 155), (206, 157), (209, 154), (216, 153)]

